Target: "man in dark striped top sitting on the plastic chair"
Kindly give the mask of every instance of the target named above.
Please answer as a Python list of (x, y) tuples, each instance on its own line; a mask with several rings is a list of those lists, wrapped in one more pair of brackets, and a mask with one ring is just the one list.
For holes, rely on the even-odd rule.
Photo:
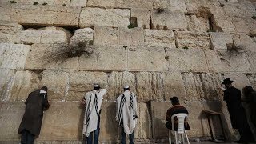
[[(171, 117), (174, 114), (180, 114), (180, 113), (189, 114), (189, 112), (186, 110), (186, 108), (179, 104), (179, 100), (177, 97), (170, 98), (170, 101), (173, 106), (170, 107), (170, 109), (168, 109), (167, 113), (166, 113), (166, 121), (167, 121), (166, 127), (169, 130), (172, 129)], [(187, 122), (187, 118), (185, 118), (184, 126), (185, 126), (185, 130), (190, 130), (190, 125)], [(178, 129), (178, 118), (174, 117), (174, 130), (176, 131), (177, 129)]]

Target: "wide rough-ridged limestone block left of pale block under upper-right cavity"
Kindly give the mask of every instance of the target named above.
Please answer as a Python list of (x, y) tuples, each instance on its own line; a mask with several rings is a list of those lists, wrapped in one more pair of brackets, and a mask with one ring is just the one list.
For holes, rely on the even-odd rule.
[(203, 48), (210, 49), (210, 37), (208, 33), (194, 33), (188, 31), (175, 31), (178, 48)]

